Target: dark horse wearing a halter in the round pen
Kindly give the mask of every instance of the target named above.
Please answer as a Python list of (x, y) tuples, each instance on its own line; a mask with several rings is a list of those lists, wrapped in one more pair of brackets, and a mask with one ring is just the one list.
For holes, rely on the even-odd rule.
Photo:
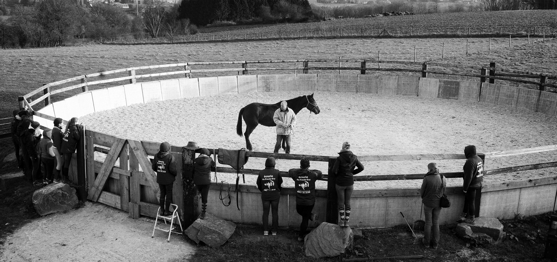
[[(253, 150), (250, 142), (250, 135), (258, 124), (263, 126), (276, 126), (276, 123), (273, 122), (273, 115), (275, 114), (275, 111), (280, 108), (280, 102), (273, 103), (272, 105), (267, 103), (250, 103), (250, 105), (247, 105), (240, 110), (240, 113), (238, 114), (236, 133), (238, 136), (242, 136), (243, 116), (244, 121), (246, 122), (246, 132), (244, 135), (246, 136), (247, 150)], [(304, 107), (310, 112), (314, 112), (315, 115), (317, 115), (320, 111), (319, 106), (317, 106), (317, 102), (315, 102), (313, 98), (313, 93), (309, 96), (304, 95), (292, 98), (290, 100), (286, 100), (286, 102), (288, 103), (288, 107), (294, 110), (295, 114), (300, 112), (300, 110)]]

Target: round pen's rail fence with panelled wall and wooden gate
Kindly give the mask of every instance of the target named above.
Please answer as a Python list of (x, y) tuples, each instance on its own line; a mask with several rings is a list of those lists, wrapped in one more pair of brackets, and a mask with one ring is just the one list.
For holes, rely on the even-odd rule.
[[(267, 65), (265, 65), (267, 64)], [(436, 69), (443, 68), (443, 69)], [(144, 73), (146, 70), (158, 70)], [(335, 74), (330, 74), (331, 70)], [(265, 75), (263, 72), (279, 72)], [(337, 72), (342, 72), (338, 74)], [(141, 72), (141, 73), (139, 73)], [(250, 74), (255, 73), (255, 75)], [(310, 73), (311, 72), (311, 73)], [(329, 72), (329, 73), (326, 73)], [(370, 72), (374, 72), (370, 75)], [(411, 74), (410, 76), (382, 75), (385, 72)], [(227, 75), (233, 73), (233, 75)], [(113, 75), (114, 78), (102, 78)], [(198, 77), (198, 76), (207, 77)], [(462, 79), (441, 79), (431, 76), (468, 77), (476, 81)], [(165, 77), (179, 76), (168, 79)], [(197, 78), (194, 78), (196, 76)], [(100, 77), (100, 78), (97, 78)], [(150, 81), (139, 82), (144, 78)], [(557, 93), (548, 92), (557, 86), (551, 82), (556, 75), (505, 70), (490, 66), (445, 65), (427, 62), (401, 62), (380, 60), (292, 60), (292, 61), (231, 61), (231, 62), (190, 62), (172, 65), (123, 68), (90, 75), (82, 75), (67, 80), (48, 83), (37, 90), (19, 97), (21, 107), (27, 107), (36, 121), (43, 127), (51, 127), (55, 117), (68, 120), (92, 112), (110, 110), (133, 103), (147, 103), (173, 98), (224, 95), (228, 93), (267, 91), (339, 91), (377, 93), (378, 95), (408, 95), (424, 98), (444, 98), (470, 102), (491, 103), (497, 106), (516, 108), (524, 111), (543, 112), (557, 116)], [(496, 84), (495, 81), (530, 85), (533, 88)], [(77, 83), (76, 83), (77, 82)], [(120, 86), (104, 87), (107, 83)], [(124, 82), (124, 83), (123, 83)], [(79, 90), (77, 95), (63, 100), (59, 95)], [(53, 94), (58, 96), (52, 96)], [(27, 98), (35, 98), (31, 102)], [(42, 107), (34, 110), (33, 107)], [(155, 216), (158, 208), (159, 189), (156, 175), (151, 169), (151, 160), (157, 154), (159, 142), (136, 141), (95, 131), (95, 127), (84, 127), (82, 141), (72, 161), (71, 177), (79, 184), (81, 199), (89, 199), (128, 211), (130, 216)], [(222, 146), (226, 148), (226, 145)], [(209, 149), (212, 150), (212, 149)], [(492, 157), (505, 157), (536, 152), (554, 151), (557, 145), (540, 146), (531, 149), (486, 152), (481, 155), (487, 161)], [(218, 154), (218, 149), (214, 149)], [(180, 215), (188, 225), (199, 212), (197, 191), (193, 185), (190, 169), (196, 153), (185, 147), (173, 145), (171, 153), (178, 162), (178, 177), (174, 183), (173, 202), (179, 206)], [(273, 154), (267, 152), (246, 152), (249, 157), (295, 159), (302, 157), (310, 161), (334, 163), (333, 156)], [(359, 156), (360, 161), (422, 161), (465, 159), (462, 154), (434, 155), (375, 155)], [(485, 175), (504, 174), (522, 170), (556, 167), (557, 162), (511, 166), (486, 170)], [(219, 173), (257, 175), (258, 169), (234, 170), (217, 166)], [(324, 171), (323, 180), (328, 182), (328, 190), (316, 190), (315, 210), (326, 221), (336, 221), (336, 191), (334, 181), (329, 180), (329, 171)], [(462, 172), (444, 173), (449, 178), (462, 177)], [(287, 172), (281, 172), (287, 177)], [(355, 176), (359, 181), (423, 179), (423, 174), (392, 174), (375, 176)], [(237, 192), (234, 192), (237, 190)], [(209, 190), (208, 211), (223, 219), (245, 224), (260, 224), (260, 192), (255, 185), (229, 185), (226, 182), (213, 183)], [(441, 223), (453, 223), (463, 205), (461, 187), (448, 187), (447, 194), (455, 208), (448, 209)], [(300, 217), (295, 209), (295, 190), (285, 187), (281, 192), (280, 226), (296, 228)], [(487, 184), (478, 199), (478, 212), (482, 216), (507, 218), (515, 213), (524, 215), (540, 214), (555, 209), (557, 200), (557, 175), (520, 181)], [(224, 205), (216, 204), (221, 202)], [(236, 207), (238, 202), (240, 210)], [(369, 189), (355, 190), (352, 205), (353, 221), (360, 227), (385, 227), (404, 223), (399, 211), (409, 217), (419, 217), (421, 199), (419, 189)], [(229, 205), (227, 205), (230, 203)]]

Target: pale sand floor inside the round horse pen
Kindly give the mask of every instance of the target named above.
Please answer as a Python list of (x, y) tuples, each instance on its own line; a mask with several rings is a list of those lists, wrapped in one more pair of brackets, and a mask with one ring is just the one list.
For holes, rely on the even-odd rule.
[[(182, 98), (136, 104), (96, 112), (80, 118), (89, 129), (144, 141), (168, 141), (186, 145), (196, 141), (202, 147), (240, 149), (245, 139), (236, 135), (238, 112), (251, 102), (276, 103), (305, 92), (254, 92), (241, 95)], [(555, 118), (538, 112), (520, 112), (483, 103), (379, 96), (365, 93), (315, 92), (321, 112), (302, 109), (297, 115), (292, 154), (336, 156), (344, 141), (356, 155), (463, 154), (466, 145), (478, 152), (522, 149), (555, 144)], [(242, 121), (243, 122), (243, 121)], [(245, 131), (245, 123), (242, 130)], [(275, 127), (258, 126), (251, 135), (254, 151), (272, 152)], [(280, 151), (284, 152), (284, 151)], [(100, 153), (98, 153), (100, 154)], [(100, 154), (101, 155), (101, 154)], [(99, 159), (99, 158), (97, 158)], [(486, 169), (556, 161), (555, 152), (496, 157), (486, 160)], [(363, 162), (359, 175), (418, 174), (430, 161)], [(462, 171), (465, 160), (438, 160), (442, 172)], [(265, 159), (252, 157), (245, 166), (263, 169)], [(277, 169), (299, 167), (299, 161), (277, 160)], [(327, 170), (326, 162), (311, 162), (312, 169)], [(500, 182), (557, 174), (557, 169), (539, 169), (486, 176), (484, 181)], [(236, 175), (218, 174), (234, 182)], [(255, 185), (256, 176), (246, 175)], [(241, 180), (242, 182), (242, 180)], [(419, 187), (421, 180), (356, 182), (358, 189)], [(449, 179), (449, 186), (462, 179)], [(285, 179), (285, 186), (293, 186)], [(326, 182), (317, 186), (326, 187)]]

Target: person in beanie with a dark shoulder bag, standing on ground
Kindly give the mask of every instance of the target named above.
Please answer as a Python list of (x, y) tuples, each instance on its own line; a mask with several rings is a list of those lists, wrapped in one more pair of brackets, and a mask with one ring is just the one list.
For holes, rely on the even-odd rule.
[(439, 214), (441, 214), (441, 197), (447, 186), (447, 179), (439, 174), (436, 163), (427, 165), (427, 174), (423, 178), (419, 194), (422, 197), (423, 212), (426, 216), (422, 244), (434, 249), (439, 246)]

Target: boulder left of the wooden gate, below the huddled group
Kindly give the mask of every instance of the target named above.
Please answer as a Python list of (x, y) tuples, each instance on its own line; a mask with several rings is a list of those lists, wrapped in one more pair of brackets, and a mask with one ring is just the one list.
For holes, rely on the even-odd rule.
[(79, 202), (75, 192), (68, 184), (48, 184), (33, 192), (33, 205), (41, 216), (69, 210)]

